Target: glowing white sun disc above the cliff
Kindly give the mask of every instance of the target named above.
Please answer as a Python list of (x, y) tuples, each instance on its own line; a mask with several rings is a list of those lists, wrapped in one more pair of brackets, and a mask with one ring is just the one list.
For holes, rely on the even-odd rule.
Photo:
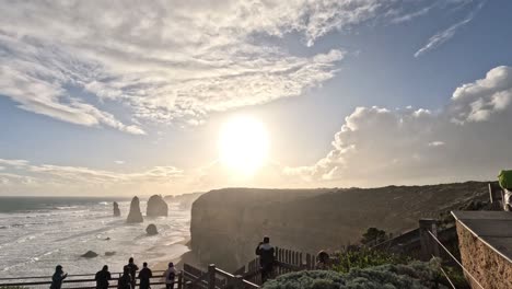
[(223, 165), (242, 175), (253, 175), (267, 161), (268, 135), (258, 119), (238, 116), (226, 122), (219, 136)]

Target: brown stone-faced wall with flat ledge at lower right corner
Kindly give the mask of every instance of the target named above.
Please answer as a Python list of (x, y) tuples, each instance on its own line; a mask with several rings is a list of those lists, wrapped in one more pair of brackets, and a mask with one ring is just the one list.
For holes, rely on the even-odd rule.
[[(473, 288), (512, 288), (512, 212), (452, 211)], [(466, 276), (467, 277), (467, 276)]]

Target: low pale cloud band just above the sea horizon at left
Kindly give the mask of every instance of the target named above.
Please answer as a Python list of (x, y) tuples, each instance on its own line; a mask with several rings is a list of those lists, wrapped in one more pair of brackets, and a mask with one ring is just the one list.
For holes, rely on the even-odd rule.
[[(184, 172), (175, 166), (153, 166), (139, 172), (114, 172), (83, 166), (33, 164), (26, 160), (0, 159), (3, 193), (119, 195), (183, 189)], [(173, 190), (175, 192), (175, 190)]]

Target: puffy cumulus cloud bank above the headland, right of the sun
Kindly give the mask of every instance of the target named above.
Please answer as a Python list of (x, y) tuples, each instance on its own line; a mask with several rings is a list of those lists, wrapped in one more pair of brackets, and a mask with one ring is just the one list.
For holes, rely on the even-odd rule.
[(511, 165), (511, 97), (512, 68), (497, 67), (442, 112), (358, 107), (325, 158), (284, 173), (348, 186), (494, 178)]

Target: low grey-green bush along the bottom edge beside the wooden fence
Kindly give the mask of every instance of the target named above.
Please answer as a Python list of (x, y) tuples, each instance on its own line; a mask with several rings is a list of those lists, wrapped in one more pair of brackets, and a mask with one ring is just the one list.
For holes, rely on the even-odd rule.
[(428, 289), (435, 288), (439, 262), (412, 262), (408, 265), (381, 265), (333, 270), (298, 271), (267, 281), (263, 289)]

